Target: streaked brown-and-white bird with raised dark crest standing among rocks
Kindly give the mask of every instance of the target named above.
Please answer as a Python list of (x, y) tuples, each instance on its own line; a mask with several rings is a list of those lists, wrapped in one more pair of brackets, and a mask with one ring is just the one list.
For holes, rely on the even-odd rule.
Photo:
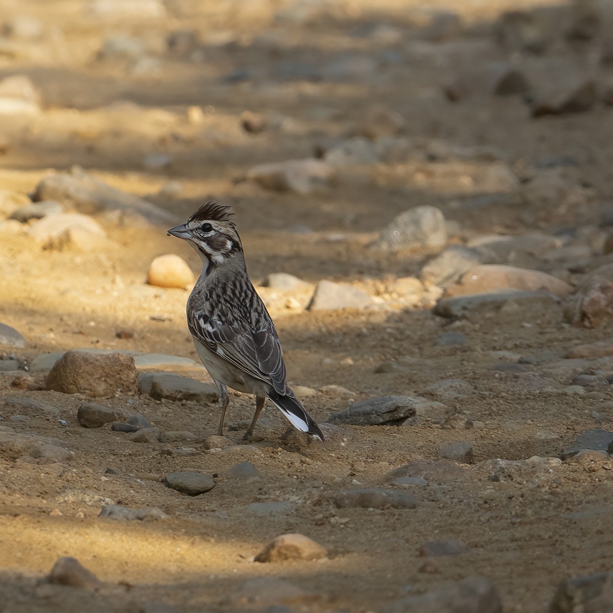
[(227, 388), (253, 394), (256, 411), (243, 436), (251, 440), (266, 399), (289, 422), (324, 441), (321, 428), (307, 413), (286, 381), (281, 343), (247, 272), (243, 246), (229, 205), (208, 201), (186, 223), (168, 230), (182, 238), (202, 259), (202, 272), (189, 295), (189, 332), (202, 364), (218, 390), (223, 436), (229, 403)]

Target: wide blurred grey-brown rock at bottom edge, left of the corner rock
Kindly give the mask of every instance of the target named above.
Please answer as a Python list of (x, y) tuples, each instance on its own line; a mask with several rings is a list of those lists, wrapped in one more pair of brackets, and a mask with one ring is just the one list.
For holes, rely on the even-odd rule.
[(478, 575), (419, 596), (409, 596), (381, 609), (382, 613), (502, 613), (493, 583)]

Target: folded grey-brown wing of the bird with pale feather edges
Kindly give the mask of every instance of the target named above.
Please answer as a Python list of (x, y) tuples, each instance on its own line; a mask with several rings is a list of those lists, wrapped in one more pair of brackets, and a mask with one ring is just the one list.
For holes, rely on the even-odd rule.
[(245, 324), (224, 324), (216, 318), (188, 314), (189, 331), (201, 343), (248, 375), (268, 383), (279, 394), (286, 389), (281, 343), (272, 321), (252, 331)]

